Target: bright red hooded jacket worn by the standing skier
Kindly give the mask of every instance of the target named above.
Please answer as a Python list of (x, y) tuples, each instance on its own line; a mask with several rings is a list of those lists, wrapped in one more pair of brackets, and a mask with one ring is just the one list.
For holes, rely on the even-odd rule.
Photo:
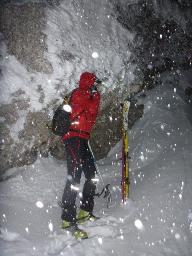
[[(93, 98), (90, 99), (91, 90), (88, 89), (88, 86), (94, 85), (95, 79), (96, 76), (88, 72), (81, 75), (79, 88), (74, 91), (70, 99), (70, 106), (72, 108), (71, 121), (76, 118), (76, 116), (79, 116), (83, 110), (84, 112), (80, 114), (79, 118), (75, 120), (74, 124), (71, 124), (70, 131), (62, 136), (62, 140), (76, 136), (86, 140), (89, 139), (88, 134), (90, 134), (92, 126), (95, 123), (100, 103), (99, 92), (95, 92), (93, 94)], [(77, 130), (82, 133), (71, 130)]]

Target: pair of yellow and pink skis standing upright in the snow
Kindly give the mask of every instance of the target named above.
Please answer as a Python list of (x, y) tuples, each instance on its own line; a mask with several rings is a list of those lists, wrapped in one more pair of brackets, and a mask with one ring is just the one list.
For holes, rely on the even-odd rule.
[(122, 202), (129, 197), (129, 148), (128, 148), (128, 112), (130, 102), (125, 100), (122, 104), (123, 125), (122, 125)]

